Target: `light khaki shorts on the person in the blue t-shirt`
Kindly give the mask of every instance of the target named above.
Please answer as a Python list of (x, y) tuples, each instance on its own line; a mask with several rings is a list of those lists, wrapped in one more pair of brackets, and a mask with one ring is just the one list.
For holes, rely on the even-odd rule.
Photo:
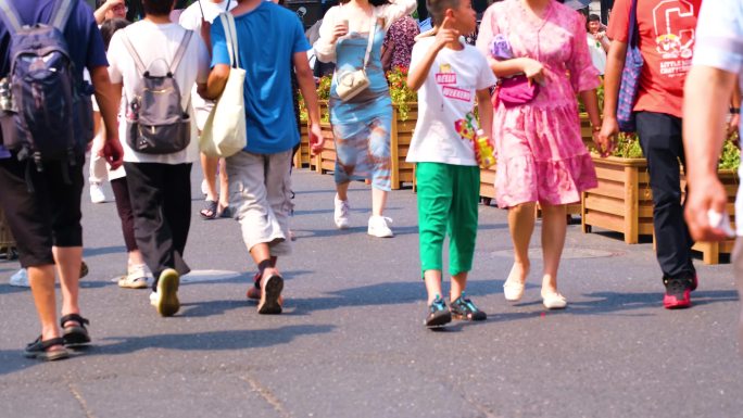
[(229, 205), (248, 250), (267, 243), (272, 256), (291, 253), (291, 150), (277, 154), (241, 151), (226, 161)]

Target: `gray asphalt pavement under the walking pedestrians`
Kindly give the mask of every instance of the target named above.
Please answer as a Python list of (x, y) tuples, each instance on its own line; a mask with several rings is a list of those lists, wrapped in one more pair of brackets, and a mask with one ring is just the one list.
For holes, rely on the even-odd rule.
[(112, 281), (126, 267), (112, 202), (84, 202), (89, 350), (49, 364), (24, 358), (38, 319), (30, 292), (8, 284), (17, 263), (0, 262), (0, 417), (743, 416), (728, 264), (697, 259), (694, 306), (669, 312), (648, 240), (627, 245), (574, 224), (559, 275), (569, 306), (547, 312), (538, 223), (529, 286), (511, 304), (506, 213), (481, 205), (468, 294), (489, 318), (433, 332), (423, 327), (413, 191), (390, 194), (396, 237), (375, 239), (368, 186), (351, 187), (352, 228), (339, 231), (332, 177), (300, 169), (298, 240), (279, 261), (285, 313), (259, 316), (244, 295), (254, 266), (239, 226), (199, 218), (197, 167), (192, 178), (185, 257), (193, 273), (175, 317), (159, 317), (149, 291)]

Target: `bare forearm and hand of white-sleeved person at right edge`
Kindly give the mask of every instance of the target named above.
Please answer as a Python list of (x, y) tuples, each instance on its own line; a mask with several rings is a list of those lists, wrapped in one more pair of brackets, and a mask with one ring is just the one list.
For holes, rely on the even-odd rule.
[(736, 89), (735, 74), (704, 65), (689, 72), (684, 85), (683, 147), (689, 197), (685, 218), (697, 240), (717, 240), (725, 235), (709, 225), (707, 212), (725, 213), (728, 197), (717, 178), (717, 162), (726, 132), (730, 92)]

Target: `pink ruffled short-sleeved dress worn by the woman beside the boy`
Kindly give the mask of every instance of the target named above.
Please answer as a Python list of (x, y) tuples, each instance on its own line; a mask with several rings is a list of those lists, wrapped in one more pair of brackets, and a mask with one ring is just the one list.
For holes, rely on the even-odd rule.
[(477, 47), (486, 55), (491, 54), (493, 37), (503, 34), (515, 58), (538, 60), (546, 74), (530, 103), (495, 106), (495, 198), (501, 207), (574, 203), (583, 190), (596, 187), (593, 162), (580, 136), (577, 93), (599, 87), (599, 72), (585, 43), (584, 18), (556, 1), (550, 8), (541, 20), (521, 0), (505, 0), (488, 8), (480, 25)]

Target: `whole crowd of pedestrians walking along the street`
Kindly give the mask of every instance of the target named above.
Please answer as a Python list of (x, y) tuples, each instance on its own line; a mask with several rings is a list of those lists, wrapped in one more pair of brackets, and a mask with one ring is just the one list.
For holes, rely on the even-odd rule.
[[(493, 160), (496, 201), (508, 211), (514, 246), (505, 299), (524, 295), (539, 205), (542, 304), (568, 305), (557, 289), (566, 205), (597, 183), (581, 139), (579, 101), (601, 156), (612, 153), (619, 130), (638, 132), (650, 170), (666, 308), (691, 306), (700, 281), (691, 258), (694, 240), (734, 235), (715, 167), (725, 114), (740, 113), (743, 5), (735, 0), (616, 0), (608, 27), (558, 0), (498, 1), (479, 27), (470, 0), (427, 0), (432, 28), (423, 34), (411, 17), (415, 0), (341, 0), (313, 30), (314, 45), (297, 15), (270, 1), (196, 1), (179, 13), (174, 3), (142, 0), (143, 17), (129, 23), (124, 0), (99, 1), (96, 11), (81, 0), (0, 0), (0, 206), (41, 322), (27, 357), (65, 358), (70, 347), (91, 341), (78, 286), (86, 148), (91, 200), (106, 200), (108, 179), (116, 201), (128, 255), (121, 287), (150, 287), (150, 303), (161, 316), (178, 313), (180, 278), (190, 270), (184, 252), (191, 169), (199, 161), (205, 195), (200, 216), (239, 223), (257, 271), (248, 297), (259, 301), (259, 314), (281, 313), (278, 261), (292, 246), (298, 92), (313, 152), (324, 145), (311, 60), (335, 64), (332, 220), (339, 229), (353, 224), (348, 188), (366, 179), (367, 232), (376, 238), (394, 236), (385, 216), (392, 130), (385, 74), (410, 67), (418, 119), (407, 161), (416, 165), (426, 327), (453, 317), (487, 318), (466, 287), (480, 166)], [(465, 39), (471, 34), (475, 46)], [(244, 132), (247, 145), (245, 138), (231, 138), (244, 148), (222, 152), (215, 142), (207, 151), (204, 134), (222, 140), (212, 135), (215, 105), (236, 92), (235, 77), (244, 77), (238, 81), (242, 106), (219, 117)], [(736, 128), (738, 117), (728, 125)], [(689, 180), (685, 220), (682, 167)], [(735, 212), (743, 216), (743, 203)], [(446, 237), (449, 297), (442, 283)], [(743, 246), (732, 257), (743, 278)]]

